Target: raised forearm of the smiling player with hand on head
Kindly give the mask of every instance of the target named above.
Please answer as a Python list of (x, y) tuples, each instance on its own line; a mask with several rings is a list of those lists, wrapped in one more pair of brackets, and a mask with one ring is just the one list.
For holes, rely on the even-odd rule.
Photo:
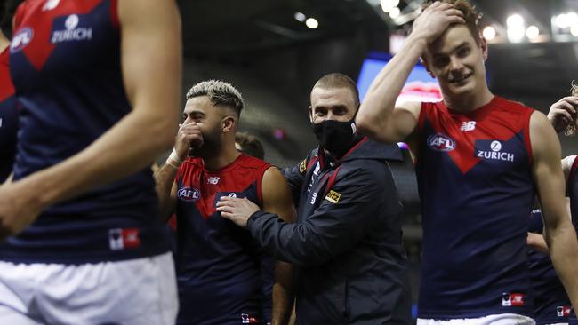
[(356, 122), (360, 131), (371, 137), (388, 138), (385, 132), (391, 129), (388, 123), (397, 97), (426, 45), (425, 38), (410, 35), (402, 50), (375, 77), (357, 113)]

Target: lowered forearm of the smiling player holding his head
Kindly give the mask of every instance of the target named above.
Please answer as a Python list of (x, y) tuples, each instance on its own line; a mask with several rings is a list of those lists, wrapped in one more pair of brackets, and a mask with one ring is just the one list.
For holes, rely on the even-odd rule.
[(546, 229), (545, 240), (550, 247), (550, 258), (574, 309), (578, 307), (578, 241), (569, 220), (563, 225)]

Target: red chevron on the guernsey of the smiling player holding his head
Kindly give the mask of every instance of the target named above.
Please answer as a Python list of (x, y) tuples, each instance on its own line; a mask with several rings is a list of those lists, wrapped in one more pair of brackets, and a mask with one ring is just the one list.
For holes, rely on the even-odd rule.
[[(514, 159), (513, 155), (502, 152), (502, 144), (520, 132), (531, 153), (528, 128), (532, 112), (497, 96), (470, 113), (451, 111), (440, 101), (422, 103), (419, 123), (420, 130), (427, 123), (434, 133), (426, 139), (426, 145), (432, 150), (446, 152), (465, 174), (483, 159)], [(486, 146), (478, 142), (480, 140), (490, 142)]]

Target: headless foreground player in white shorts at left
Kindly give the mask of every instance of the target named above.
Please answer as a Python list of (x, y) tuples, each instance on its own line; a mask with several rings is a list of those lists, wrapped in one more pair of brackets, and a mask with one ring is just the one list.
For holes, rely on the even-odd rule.
[(27, 0), (13, 26), (21, 114), (0, 186), (0, 323), (174, 324), (150, 164), (178, 117), (175, 2)]

